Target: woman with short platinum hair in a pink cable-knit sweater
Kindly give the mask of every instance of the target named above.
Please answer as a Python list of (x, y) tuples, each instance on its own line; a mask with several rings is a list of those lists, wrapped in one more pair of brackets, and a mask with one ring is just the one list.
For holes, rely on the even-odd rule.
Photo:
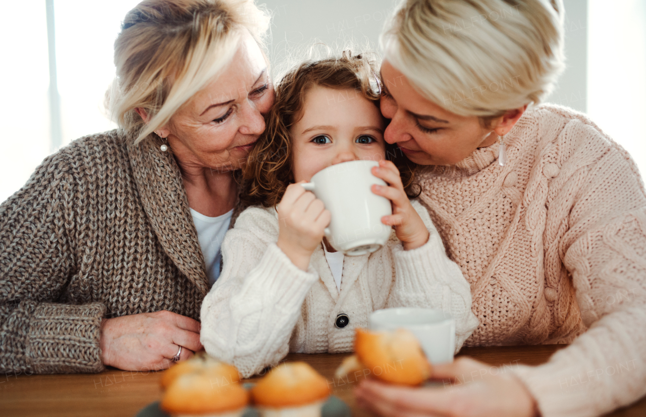
[(437, 366), (457, 383), (443, 389), (365, 381), (360, 403), (384, 416), (597, 416), (646, 394), (643, 182), (584, 114), (537, 105), (563, 67), (561, 1), (404, 0), (382, 40), (384, 137), (426, 166), (421, 200), (481, 323), (465, 345), (570, 346), (513, 372)]

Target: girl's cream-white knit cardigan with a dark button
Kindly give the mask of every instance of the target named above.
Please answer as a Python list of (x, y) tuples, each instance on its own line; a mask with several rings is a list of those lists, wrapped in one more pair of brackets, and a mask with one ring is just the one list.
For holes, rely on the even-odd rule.
[[(350, 352), (355, 328), (366, 327), (371, 312), (413, 306), (441, 308), (455, 317), (457, 352), (479, 325), (470, 287), (446, 256), (426, 209), (412, 204), (430, 232), (428, 242), (404, 251), (393, 232), (380, 250), (346, 256), (340, 292), (322, 246), (309, 270), (300, 270), (276, 246), (276, 210), (246, 209), (222, 242), (224, 268), (202, 304), (206, 351), (233, 363), (246, 378), (289, 351)], [(344, 328), (335, 326), (340, 313), (349, 316)]]

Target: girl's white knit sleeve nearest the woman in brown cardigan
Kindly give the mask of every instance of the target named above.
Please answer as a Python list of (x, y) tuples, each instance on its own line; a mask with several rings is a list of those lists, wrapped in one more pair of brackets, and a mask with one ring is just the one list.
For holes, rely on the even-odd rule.
[(289, 352), (301, 305), (318, 274), (297, 268), (275, 242), (272, 211), (246, 209), (222, 242), (224, 268), (202, 303), (200, 340), (245, 378)]

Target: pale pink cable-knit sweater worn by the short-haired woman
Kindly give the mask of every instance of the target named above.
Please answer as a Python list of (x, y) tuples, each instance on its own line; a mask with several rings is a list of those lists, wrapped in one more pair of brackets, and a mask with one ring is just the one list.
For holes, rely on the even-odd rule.
[[(421, 201), (470, 283), (466, 346), (571, 343), (515, 372), (544, 417), (597, 416), (646, 394), (646, 193), (583, 114), (540, 105), (498, 145), (421, 173)], [(580, 336), (579, 336), (580, 335)]]

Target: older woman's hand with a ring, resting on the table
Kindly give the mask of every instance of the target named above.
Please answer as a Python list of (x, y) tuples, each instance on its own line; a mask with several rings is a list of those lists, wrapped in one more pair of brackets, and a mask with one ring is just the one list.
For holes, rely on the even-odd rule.
[(169, 311), (123, 315), (101, 323), (101, 360), (123, 370), (160, 370), (202, 350), (200, 323)]

